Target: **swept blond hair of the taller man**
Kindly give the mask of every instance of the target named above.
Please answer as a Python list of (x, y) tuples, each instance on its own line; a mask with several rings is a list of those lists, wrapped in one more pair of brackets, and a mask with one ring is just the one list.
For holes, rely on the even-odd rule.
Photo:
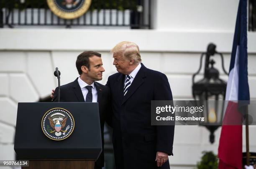
[(129, 41), (120, 42), (110, 52), (119, 53), (128, 60), (134, 60), (137, 64), (141, 63), (140, 50), (136, 43)]

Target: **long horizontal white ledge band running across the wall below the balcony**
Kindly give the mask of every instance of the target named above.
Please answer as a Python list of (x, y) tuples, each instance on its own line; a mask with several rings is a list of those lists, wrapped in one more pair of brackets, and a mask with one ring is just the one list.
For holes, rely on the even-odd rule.
[[(136, 42), (148, 52), (202, 52), (208, 43), (220, 52), (231, 52), (233, 31), (172, 30), (82, 30), (82, 29), (3, 29), (0, 50), (104, 50), (120, 41)], [(248, 32), (248, 52), (256, 53), (256, 33)]]

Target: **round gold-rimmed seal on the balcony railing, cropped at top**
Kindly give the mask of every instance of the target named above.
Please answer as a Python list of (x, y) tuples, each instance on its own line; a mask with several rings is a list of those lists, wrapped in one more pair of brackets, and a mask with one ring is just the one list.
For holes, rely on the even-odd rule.
[(47, 0), (52, 12), (63, 19), (74, 19), (83, 15), (92, 0)]

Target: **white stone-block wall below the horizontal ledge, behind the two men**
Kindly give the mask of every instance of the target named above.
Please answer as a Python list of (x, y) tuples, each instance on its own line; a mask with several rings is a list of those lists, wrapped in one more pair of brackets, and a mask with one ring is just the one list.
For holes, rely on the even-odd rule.
[[(85, 48), (84, 50), (89, 50)], [(107, 77), (113, 74), (115, 67), (112, 57), (105, 50), (102, 53), (103, 74), (102, 84)], [(61, 84), (73, 81), (77, 77), (75, 68), (76, 56), (82, 50), (74, 51), (20, 51), (9, 50), (0, 52), (0, 145), (8, 152), (0, 152), (0, 159), (13, 159), (13, 136), (15, 132), (15, 118), (18, 102), (35, 102), (40, 97), (49, 95), (56, 87), (56, 78), (53, 76), (55, 67), (61, 71)], [(174, 95), (174, 99), (192, 99), (192, 73), (199, 66), (200, 53), (197, 52), (141, 52), (146, 67), (164, 72)], [(225, 54), (225, 67), (228, 69), (230, 55)], [(216, 58), (217, 59), (217, 58)], [(218, 60), (216, 60), (218, 61)], [(220, 63), (220, 62), (217, 62)], [(248, 57), (249, 85), (251, 99), (256, 99), (256, 55)], [(220, 64), (216, 65), (220, 70)], [(223, 73), (223, 72), (222, 72)], [(227, 79), (225, 75), (222, 75)], [(250, 128), (251, 151), (256, 151), (256, 128)], [(212, 150), (217, 153), (220, 129), (216, 131), (215, 143), (210, 145), (209, 132), (204, 127), (176, 126), (174, 137), (174, 156), (170, 163), (175, 168), (192, 168), (199, 161), (201, 152)], [(245, 147), (244, 147), (245, 148)]]

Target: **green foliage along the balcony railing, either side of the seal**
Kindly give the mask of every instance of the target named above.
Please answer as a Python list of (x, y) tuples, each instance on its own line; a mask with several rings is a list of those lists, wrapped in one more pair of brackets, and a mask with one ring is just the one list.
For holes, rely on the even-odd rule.
[[(136, 0), (92, 0), (89, 10), (101, 10), (101, 9), (136, 9)], [(23, 3), (20, 0), (0, 0), (0, 7), (18, 8), (20, 10), (30, 7), (33, 8), (49, 8), (46, 0), (24, 0)]]

